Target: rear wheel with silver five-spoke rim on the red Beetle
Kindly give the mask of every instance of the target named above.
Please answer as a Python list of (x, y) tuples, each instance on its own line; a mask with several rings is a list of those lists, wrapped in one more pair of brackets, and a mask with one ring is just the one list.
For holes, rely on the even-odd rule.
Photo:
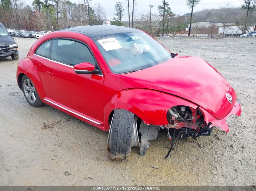
[(22, 77), (22, 91), (27, 102), (33, 107), (45, 105), (45, 103), (43, 103), (40, 97), (38, 96), (34, 84), (26, 75)]

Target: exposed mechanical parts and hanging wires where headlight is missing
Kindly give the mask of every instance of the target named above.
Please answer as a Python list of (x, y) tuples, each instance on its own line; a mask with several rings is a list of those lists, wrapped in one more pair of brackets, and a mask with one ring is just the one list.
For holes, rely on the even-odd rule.
[(209, 122), (207, 124), (204, 121), (204, 116), (198, 108), (194, 109), (183, 105), (170, 108), (166, 116), (169, 124), (164, 126), (155, 126), (153, 128), (152, 126), (143, 124), (142, 121), (140, 125), (140, 133), (142, 135), (140, 145), (141, 156), (146, 153), (145, 151), (150, 145), (148, 141), (155, 139), (160, 129), (167, 129), (167, 138), (171, 140), (171, 147), (165, 158), (170, 156), (171, 150), (177, 147), (178, 142), (182, 138), (191, 136), (197, 139), (199, 136), (211, 135), (212, 128), (210, 128), (210, 125), (212, 123)]

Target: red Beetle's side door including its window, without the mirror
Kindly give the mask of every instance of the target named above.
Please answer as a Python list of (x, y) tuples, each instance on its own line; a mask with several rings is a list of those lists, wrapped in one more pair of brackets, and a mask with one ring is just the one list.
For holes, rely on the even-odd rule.
[(89, 119), (103, 121), (103, 75), (76, 74), (73, 66), (89, 62), (99, 69), (88, 47), (70, 39), (54, 39), (51, 51), (48, 86), (55, 103), (82, 113)]

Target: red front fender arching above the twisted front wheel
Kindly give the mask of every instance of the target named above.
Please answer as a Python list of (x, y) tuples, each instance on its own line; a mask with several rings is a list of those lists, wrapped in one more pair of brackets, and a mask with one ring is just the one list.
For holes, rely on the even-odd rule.
[(127, 89), (118, 92), (108, 100), (104, 109), (105, 131), (109, 130), (109, 115), (114, 109), (131, 111), (144, 123), (152, 125), (168, 124), (167, 111), (176, 105), (186, 105), (196, 109), (198, 106), (187, 100), (151, 89)]

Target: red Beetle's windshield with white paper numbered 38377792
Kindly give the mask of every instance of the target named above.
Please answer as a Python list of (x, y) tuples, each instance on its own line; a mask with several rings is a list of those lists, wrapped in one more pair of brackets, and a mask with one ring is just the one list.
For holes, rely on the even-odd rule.
[(112, 35), (94, 42), (115, 74), (135, 72), (171, 59), (171, 53), (144, 32)]

